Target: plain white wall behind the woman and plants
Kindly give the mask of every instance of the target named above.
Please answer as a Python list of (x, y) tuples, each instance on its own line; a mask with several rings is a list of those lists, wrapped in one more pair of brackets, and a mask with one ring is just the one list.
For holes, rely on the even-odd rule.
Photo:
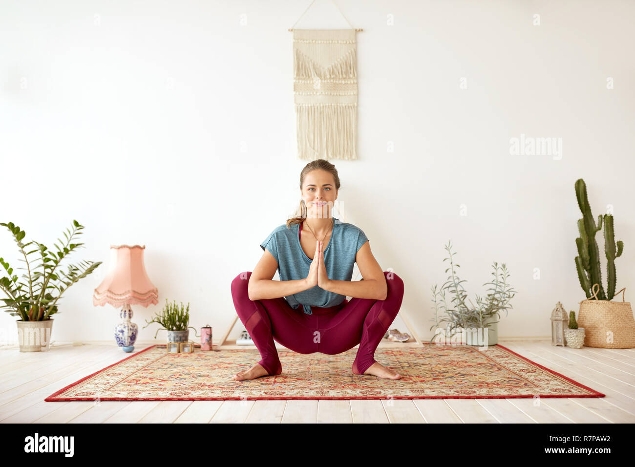
[[(485, 294), (492, 262), (507, 263), (518, 295), (501, 337), (550, 335), (558, 301), (577, 310), (580, 177), (596, 217), (613, 205), (625, 243), (617, 289), (631, 300), (635, 4), (337, 3), (364, 29), (359, 160), (333, 161), (339, 201), (382, 268), (403, 278), (402, 311), (418, 333), (432, 335), (430, 289), (446, 280), (448, 239), (472, 300)], [(122, 243), (146, 245), (159, 290), (159, 305), (133, 307), (133, 321), (144, 325), (168, 298), (190, 302), (197, 329), (209, 323), (215, 339), (225, 331), (236, 313), (232, 279), (253, 269), (258, 244), (299, 200), (306, 161), (295, 153), (287, 29), (308, 4), (0, 5), (0, 222), (52, 248), (77, 219), (86, 248), (72, 261), (104, 261), (60, 301), (53, 339), (112, 340), (118, 312), (93, 307), (91, 295), (109, 246)], [(318, 0), (297, 27), (347, 25)], [(521, 133), (561, 138), (563, 151), (512, 156), (510, 139)], [(22, 265), (4, 227), (0, 255)], [(0, 316), (4, 341), (15, 341), (15, 319)]]

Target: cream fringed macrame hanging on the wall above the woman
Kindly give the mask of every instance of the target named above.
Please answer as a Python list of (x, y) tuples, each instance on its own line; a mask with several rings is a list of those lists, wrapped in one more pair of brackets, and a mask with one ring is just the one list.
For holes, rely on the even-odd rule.
[(289, 30), (293, 31), (298, 158), (357, 159), (356, 32), (361, 29)]

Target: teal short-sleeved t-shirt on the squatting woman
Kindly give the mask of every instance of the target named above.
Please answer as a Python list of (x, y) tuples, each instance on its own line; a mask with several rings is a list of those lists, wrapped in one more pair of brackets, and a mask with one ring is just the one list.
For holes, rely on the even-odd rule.
[[(286, 223), (277, 226), (265, 241), (260, 243), (262, 251), (265, 249), (276, 259), (280, 280), (305, 279), (309, 275), (309, 267), (313, 261), (300, 247), (298, 236), (300, 224), (287, 227)], [(304, 231), (304, 229), (303, 229)], [(359, 248), (368, 241), (364, 232), (353, 224), (341, 222), (333, 217), (333, 232), (324, 250), (324, 266), (326, 274), (332, 280), (350, 281), (353, 275), (355, 256)], [(291, 308), (300, 305), (304, 313), (312, 315), (311, 306), (330, 308), (339, 305), (346, 298), (345, 295), (334, 294), (323, 288), (315, 287), (284, 297)]]

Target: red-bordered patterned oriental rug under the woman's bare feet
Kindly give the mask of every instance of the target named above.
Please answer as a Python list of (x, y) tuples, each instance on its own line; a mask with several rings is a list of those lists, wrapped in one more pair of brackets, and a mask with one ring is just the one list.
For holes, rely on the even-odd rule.
[(378, 348), (375, 360), (401, 379), (351, 371), (357, 349), (338, 355), (279, 349), (283, 373), (251, 381), (232, 375), (260, 360), (257, 349), (166, 353), (155, 345), (48, 396), (69, 400), (276, 400), (604, 397), (500, 346)]

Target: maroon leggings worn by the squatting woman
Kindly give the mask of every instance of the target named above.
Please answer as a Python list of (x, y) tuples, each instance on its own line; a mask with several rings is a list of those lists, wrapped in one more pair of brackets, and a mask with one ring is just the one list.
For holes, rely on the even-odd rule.
[(247, 294), (251, 271), (238, 274), (232, 281), (234, 307), (251, 340), (260, 351), (260, 365), (269, 375), (282, 372), (274, 340), (297, 353), (335, 355), (359, 344), (352, 364), (354, 374), (364, 374), (373, 363), (379, 342), (401, 308), (403, 281), (395, 273), (384, 271), (388, 285), (385, 300), (352, 298), (331, 308), (312, 306), (312, 315), (302, 306), (277, 299), (253, 300)]

